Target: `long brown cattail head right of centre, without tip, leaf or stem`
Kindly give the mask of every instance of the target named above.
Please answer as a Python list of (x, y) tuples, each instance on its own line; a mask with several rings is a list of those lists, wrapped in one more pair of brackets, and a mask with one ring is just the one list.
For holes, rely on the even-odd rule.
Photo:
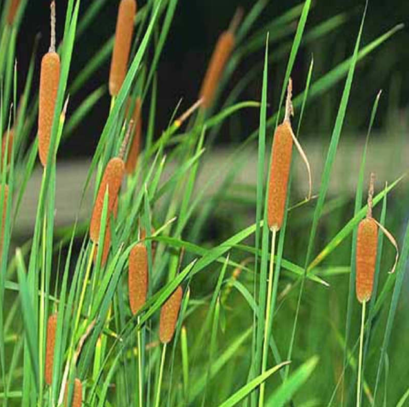
[(292, 143), (291, 125), (285, 121), (277, 127), (271, 149), (270, 179), (267, 191), (267, 220), (270, 229), (279, 230), (283, 223)]

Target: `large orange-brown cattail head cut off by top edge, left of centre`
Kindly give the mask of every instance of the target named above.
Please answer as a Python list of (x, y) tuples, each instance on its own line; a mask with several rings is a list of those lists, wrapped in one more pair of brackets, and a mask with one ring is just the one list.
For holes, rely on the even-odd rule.
[(137, 3), (135, 0), (121, 0), (109, 72), (109, 94), (111, 96), (118, 95), (126, 76), (133, 35), (133, 19), (136, 13)]

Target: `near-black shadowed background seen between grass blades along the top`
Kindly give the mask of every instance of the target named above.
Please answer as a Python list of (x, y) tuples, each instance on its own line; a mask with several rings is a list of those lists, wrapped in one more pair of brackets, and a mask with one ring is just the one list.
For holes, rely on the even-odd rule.
[[(94, 0), (98, 1), (98, 0)], [(57, 40), (62, 36), (65, 15), (65, 1), (57, 1)], [(91, 4), (91, 1), (81, 3), (81, 13)], [(117, 0), (105, 2), (99, 17), (93, 22), (89, 30), (75, 45), (71, 78), (81, 70), (86, 61), (92, 57), (115, 31), (117, 17)], [(236, 8), (242, 6), (248, 11), (252, 6), (251, 0), (183, 0), (179, 2), (168, 41), (163, 51), (158, 69), (158, 106), (156, 121), (156, 136), (163, 129), (180, 98), (184, 99), (183, 107), (188, 107), (197, 97), (201, 78), (203, 77), (214, 44), (222, 30), (228, 27)], [(142, 6), (144, 3), (140, 4)], [(283, 14), (289, 8), (300, 4), (299, 1), (286, 2), (270, 1), (265, 12), (257, 21), (252, 33), (259, 30), (266, 22), (275, 16)], [(322, 21), (339, 13), (346, 13), (345, 24), (338, 27), (330, 35), (314, 41), (303, 47), (296, 61), (292, 73), (294, 93), (297, 95), (305, 85), (311, 55), (314, 56), (313, 80), (328, 72), (337, 63), (351, 55), (353, 44), (359, 28), (359, 21), (365, 6), (364, 1), (357, 0), (319, 0), (314, 2), (307, 22), (307, 29), (313, 28)], [(371, 0), (363, 31), (362, 44), (365, 45), (385, 31), (400, 22), (407, 22), (409, 16), (409, 2), (405, 0)], [(60, 24), (58, 24), (58, 22)], [(17, 61), (19, 65), (19, 89), (24, 86), (29, 59), (36, 33), (41, 33), (37, 63), (49, 47), (49, 3), (48, 1), (29, 1), (20, 38), (17, 42)], [(21, 38), (24, 36), (24, 38)], [(285, 38), (291, 40), (293, 31)], [(407, 106), (409, 97), (409, 32), (405, 28), (383, 44), (379, 50), (371, 54), (358, 65), (351, 95), (350, 108), (347, 114), (346, 130), (359, 133), (368, 123), (368, 117), (373, 99), (380, 88), (384, 91), (381, 100), (376, 126), (382, 127), (388, 120), (399, 118), (405, 120), (402, 111)], [(271, 43), (270, 53), (274, 53), (280, 43)], [(256, 63), (262, 60), (262, 52), (249, 55), (243, 60), (234, 73), (230, 85), (237, 81)], [(96, 88), (107, 83), (108, 60), (99, 69), (92, 80), (86, 83), (80, 92), (72, 98), (69, 112), (86, 98)], [(277, 108), (279, 92), (282, 86), (286, 58), (270, 66), (269, 83), (269, 114)], [(35, 72), (39, 72), (36, 70)], [(38, 74), (37, 74), (38, 76)], [(35, 78), (33, 89), (38, 88), (38, 77)], [(338, 108), (343, 81), (335, 86), (319, 101), (307, 107), (303, 124), (305, 137), (314, 137), (314, 133), (327, 133), (331, 130)], [(240, 100), (258, 100), (260, 98), (261, 73), (245, 91)], [(229, 89), (228, 89), (229, 90)], [(225, 95), (224, 95), (225, 96)], [(146, 100), (149, 102), (149, 100)], [(86, 121), (76, 129), (67, 141), (62, 157), (90, 156), (94, 153), (99, 135), (104, 126), (109, 109), (110, 98), (105, 96), (93, 108)], [(148, 111), (148, 103), (144, 104), (144, 113)], [(220, 143), (232, 140), (243, 140), (254, 130), (258, 123), (258, 112), (245, 111), (234, 123), (227, 123), (223, 127), (223, 137)], [(146, 124), (146, 120), (145, 120)], [(348, 132), (348, 131), (346, 131)], [(32, 135), (34, 137), (34, 134)], [(359, 136), (357, 136), (359, 137)]]

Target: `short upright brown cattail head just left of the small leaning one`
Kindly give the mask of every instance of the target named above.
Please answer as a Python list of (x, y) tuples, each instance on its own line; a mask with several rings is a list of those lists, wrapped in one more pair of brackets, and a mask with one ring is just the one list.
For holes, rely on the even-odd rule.
[(135, 315), (146, 302), (148, 292), (148, 253), (143, 243), (133, 246), (129, 253), (129, 303)]

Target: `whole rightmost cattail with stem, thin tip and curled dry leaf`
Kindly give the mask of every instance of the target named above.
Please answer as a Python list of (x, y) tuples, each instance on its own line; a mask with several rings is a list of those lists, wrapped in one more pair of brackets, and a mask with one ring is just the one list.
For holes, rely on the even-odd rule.
[(395, 271), (395, 266), (399, 256), (398, 245), (391, 233), (385, 229), (375, 218), (372, 217), (372, 198), (374, 194), (375, 175), (371, 173), (368, 190), (368, 209), (367, 216), (362, 219), (358, 225), (356, 238), (356, 276), (355, 289), (356, 298), (362, 304), (361, 329), (359, 336), (359, 359), (358, 359), (358, 380), (356, 389), (356, 405), (360, 405), (361, 393), (361, 371), (362, 371), (362, 350), (363, 350), (363, 330), (365, 327), (366, 304), (371, 299), (374, 285), (375, 263), (378, 246), (378, 227), (388, 237), (395, 246), (396, 257), (395, 264), (391, 273)]

